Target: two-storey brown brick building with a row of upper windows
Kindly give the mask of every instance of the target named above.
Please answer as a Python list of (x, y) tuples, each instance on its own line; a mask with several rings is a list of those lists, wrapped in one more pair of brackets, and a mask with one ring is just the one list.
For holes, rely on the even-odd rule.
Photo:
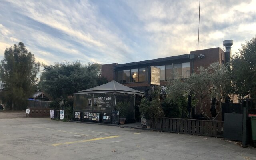
[[(230, 54), (230, 52), (224, 52), (220, 48), (210, 48), (205, 50), (191, 51), (190, 54), (140, 62), (126, 64), (104, 64), (102, 65), (102, 76), (108, 80), (116, 80), (118, 83), (125, 86), (146, 92), (146, 90), (150, 90), (150, 84), (148, 84), (149, 66), (155, 66), (161, 69), (160, 86), (165, 86), (167, 84), (167, 80), (180, 78), (174, 74), (174, 71), (178, 72), (179, 75), (182, 76), (181, 78), (187, 78), (192, 72), (196, 72), (199, 66), (208, 67), (214, 62), (225, 64), (226, 61), (230, 60)], [(204, 104), (210, 106), (210, 99), (208, 98)], [(216, 106), (218, 110), (219, 105), (217, 103)], [(200, 108), (197, 106), (196, 114), (199, 113)], [(210, 112), (208, 113), (210, 114)]]

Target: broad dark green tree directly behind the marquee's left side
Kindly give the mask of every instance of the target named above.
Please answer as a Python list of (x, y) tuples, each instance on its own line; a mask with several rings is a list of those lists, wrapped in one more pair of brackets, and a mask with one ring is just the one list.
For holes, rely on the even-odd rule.
[[(74, 92), (108, 82), (100, 76), (101, 64), (82, 64), (80, 61), (44, 65), (40, 88), (53, 98), (52, 108), (72, 112)], [(65, 111), (65, 113), (68, 113)]]

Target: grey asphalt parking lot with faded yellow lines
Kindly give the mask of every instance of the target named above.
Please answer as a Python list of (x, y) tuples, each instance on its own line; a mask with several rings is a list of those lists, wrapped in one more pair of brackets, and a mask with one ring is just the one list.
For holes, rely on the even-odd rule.
[(0, 119), (0, 160), (256, 160), (221, 138), (50, 118)]

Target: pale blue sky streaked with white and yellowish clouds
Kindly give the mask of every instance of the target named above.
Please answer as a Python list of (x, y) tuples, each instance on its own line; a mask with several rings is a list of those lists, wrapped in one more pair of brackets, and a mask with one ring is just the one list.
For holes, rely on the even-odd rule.
[[(256, 0), (201, 0), (199, 50), (256, 35)], [(0, 60), (23, 42), (36, 61), (129, 63), (198, 49), (199, 0), (0, 0)]]

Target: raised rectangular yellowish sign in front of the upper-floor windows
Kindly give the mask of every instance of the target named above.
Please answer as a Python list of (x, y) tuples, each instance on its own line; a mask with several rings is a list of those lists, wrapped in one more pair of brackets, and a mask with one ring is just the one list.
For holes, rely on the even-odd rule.
[(150, 66), (148, 73), (148, 84), (160, 86), (160, 68)]

